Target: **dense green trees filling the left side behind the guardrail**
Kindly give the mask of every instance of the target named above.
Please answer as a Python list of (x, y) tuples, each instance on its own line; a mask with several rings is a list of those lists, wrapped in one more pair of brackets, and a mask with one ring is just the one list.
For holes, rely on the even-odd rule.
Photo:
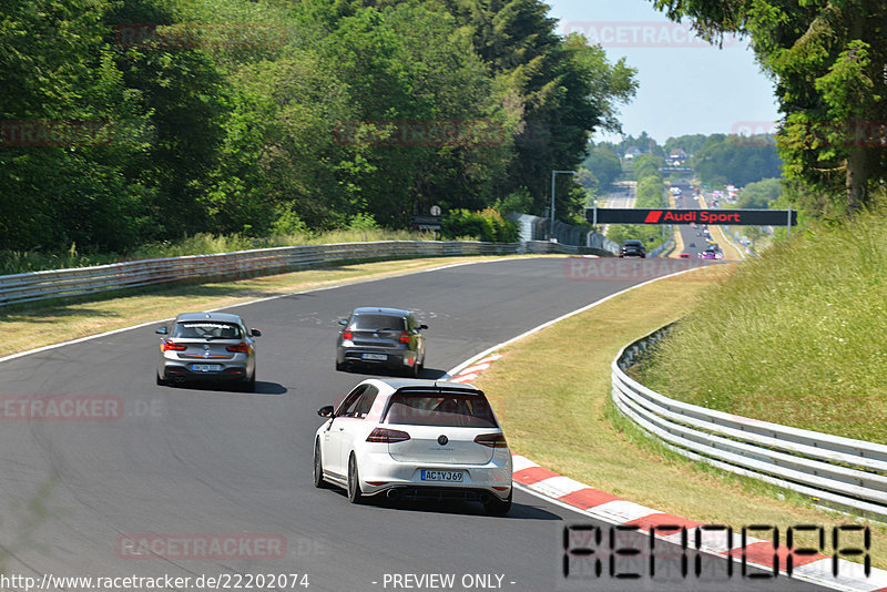
[(541, 214), (636, 86), (541, 0), (0, 7), (0, 251)]

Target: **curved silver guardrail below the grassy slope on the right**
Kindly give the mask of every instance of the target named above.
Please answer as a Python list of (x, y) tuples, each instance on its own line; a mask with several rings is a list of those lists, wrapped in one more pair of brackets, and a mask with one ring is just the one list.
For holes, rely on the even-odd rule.
[(625, 370), (671, 326), (625, 346), (612, 364), (619, 410), (693, 460), (863, 516), (887, 517), (887, 446), (714, 411), (664, 397)]

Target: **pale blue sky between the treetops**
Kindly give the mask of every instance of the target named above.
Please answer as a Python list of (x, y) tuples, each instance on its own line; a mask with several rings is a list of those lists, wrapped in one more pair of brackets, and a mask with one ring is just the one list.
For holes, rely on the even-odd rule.
[[(582, 32), (611, 62), (625, 57), (638, 69), (634, 100), (620, 109), (623, 132), (646, 131), (660, 144), (673, 136), (767, 133), (779, 114), (773, 82), (747, 41), (723, 49), (671, 22), (650, 0), (546, 0), (558, 32)], [(593, 139), (618, 136), (597, 134)]]

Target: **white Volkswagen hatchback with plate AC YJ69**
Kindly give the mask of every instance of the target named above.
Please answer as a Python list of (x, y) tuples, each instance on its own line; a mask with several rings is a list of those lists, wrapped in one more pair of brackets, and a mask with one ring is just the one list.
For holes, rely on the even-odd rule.
[(471, 386), (371, 378), (317, 414), (328, 419), (314, 442), (315, 487), (344, 487), (351, 503), (385, 494), (511, 509), (511, 451)]

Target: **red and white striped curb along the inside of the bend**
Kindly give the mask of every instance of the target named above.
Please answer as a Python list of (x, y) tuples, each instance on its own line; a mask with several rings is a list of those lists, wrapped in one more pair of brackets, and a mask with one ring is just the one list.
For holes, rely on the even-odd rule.
[[(487, 355), (477, 361), (472, 361), (469, 366), (458, 369), (456, 376), (449, 378), (449, 380), (470, 384), (477, 379), (480, 372), (501, 357), (500, 354)], [(580, 483), (569, 477), (550, 471), (520, 455), (512, 455), (512, 461), (513, 481), (519, 488), (555, 500), (579, 513), (603, 520), (610, 524), (638, 527), (639, 530), (644, 532), (650, 532), (651, 529), (660, 527), (684, 528), (686, 529), (686, 540), (689, 541), (695, 541), (697, 529), (703, 527), (702, 522), (646, 508), (600, 489), (594, 489), (585, 483)], [(665, 531), (669, 532), (669, 530)], [(680, 544), (683, 533), (677, 530), (673, 534), (656, 533), (655, 537), (663, 541)], [(771, 541), (754, 537), (746, 537), (743, 544), (742, 537), (734, 535), (733, 545), (727, 547), (723, 531), (702, 530), (701, 542), (701, 551), (722, 558), (731, 557), (736, 561), (744, 559), (747, 564), (768, 571), (773, 571), (774, 555), (777, 558), (778, 565), (786, 565), (789, 554), (789, 549), (785, 544), (779, 544), (774, 551)], [(866, 576), (863, 564), (819, 553), (814, 555), (792, 553), (792, 563), (791, 578), (793, 579), (805, 580), (847, 592), (887, 592), (887, 571), (885, 570), (873, 568), (869, 575)], [(834, 575), (836, 567), (837, 576)], [(779, 570), (779, 573), (787, 575), (785, 570)]]

